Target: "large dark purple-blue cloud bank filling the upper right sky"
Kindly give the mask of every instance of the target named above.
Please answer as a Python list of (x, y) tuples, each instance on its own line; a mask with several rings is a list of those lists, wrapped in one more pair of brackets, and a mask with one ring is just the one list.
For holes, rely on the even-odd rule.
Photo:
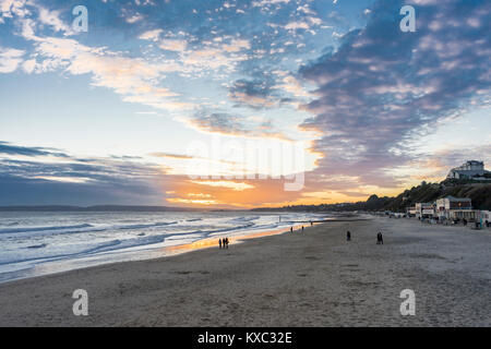
[[(398, 10), (416, 7), (416, 33)], [(301, 128), (322, 134), (316, 181), (349, 173), (358, 185), (395, 186), (391, 170), (412, 158), (406, 142), (435, 122), (489, 104), (489, 1), (380, 1), (362, 29), (303, 67), (318, 85)]]

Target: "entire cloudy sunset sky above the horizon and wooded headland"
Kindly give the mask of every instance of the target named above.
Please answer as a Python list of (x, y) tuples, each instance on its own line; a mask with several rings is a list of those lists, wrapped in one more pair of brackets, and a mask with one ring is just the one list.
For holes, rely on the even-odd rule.
[(489, 164), (490, 20), (484, 0), (0, 0), (0, 205), (356, 202)]

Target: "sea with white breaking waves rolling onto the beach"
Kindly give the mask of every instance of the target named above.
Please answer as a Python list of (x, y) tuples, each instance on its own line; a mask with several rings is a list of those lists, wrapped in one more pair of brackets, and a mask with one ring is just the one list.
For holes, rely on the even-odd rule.
[(256, 212), (0, 212), (0, 282), (217, 248), (330, 214)]

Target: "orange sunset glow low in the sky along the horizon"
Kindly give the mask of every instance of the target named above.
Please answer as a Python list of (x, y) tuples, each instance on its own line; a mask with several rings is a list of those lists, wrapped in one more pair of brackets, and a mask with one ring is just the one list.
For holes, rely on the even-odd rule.
[[(284, 207), (295, 205), (321, 205), (364, 202), (371, 195), (394, 197), (406, 189), (419, 185), (421, 181), (441, 180), (445, 167), (439, 161), (426, 160), (424, 172), (411, 172), (422, 164), (410, 164), (408, 168), (387, 170), (394, 178), (402, 178), (397, 185), (384, 188), (359, 183), (358, 177), (338, 176), (330, 178), (330, 184), (309, 182), (310, 172), (306, 172), (306, 185), (300, 191), (285, 191), (285, 178), (261, 178), (259, 174), (243, 179), (214, 178), (194, 179), (184, 174), (172, 176), (172, 180), (163, 190), (166, 204), (204, 209), (251, 209), (260, 207)], [(318, 166), (318, 164), (315, 165)], [(406, 173), (406, 176), (404, 176)], [(409, 173), (409, 174), (408, 174)], [(315, 178), (315, 177), (314, 177)], [(350, 184), (346, 184), (350, 183)], [(330, 189), (333, 186), (333, 189)], [(338, 188), (338, 189), (336, 189)], [(170, 189), (170, 190), (169, 190)], [(169, 197), (170, 196), (170, 197)]]

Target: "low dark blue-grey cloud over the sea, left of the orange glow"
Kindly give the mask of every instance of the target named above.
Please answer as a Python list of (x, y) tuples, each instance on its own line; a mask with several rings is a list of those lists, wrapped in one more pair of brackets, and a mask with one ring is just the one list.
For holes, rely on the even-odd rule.
[[(154, 164), (121, 159), (74, 158), (56, 149), (0, 144), (0, 205), (160, 205), (165, 176)], [(62, 161), (40, 161), (39, 156)], [(127, 159), (127, 160), (122, 160)]]

